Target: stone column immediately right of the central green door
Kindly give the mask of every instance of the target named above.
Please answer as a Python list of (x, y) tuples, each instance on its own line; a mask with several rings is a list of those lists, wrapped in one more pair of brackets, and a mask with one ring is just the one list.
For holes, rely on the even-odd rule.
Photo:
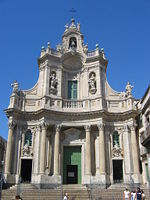
[(86, 175), (91, 175), (91, 134), (90, 126), (85, 126), (86, 131)]

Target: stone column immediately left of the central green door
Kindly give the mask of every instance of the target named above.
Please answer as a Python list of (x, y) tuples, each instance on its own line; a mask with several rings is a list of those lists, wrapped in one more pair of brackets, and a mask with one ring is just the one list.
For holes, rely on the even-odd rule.
[(60, 125), (56, 126), (54, 142), (54, 175), (59, 175), (59, 146), (60, 146)]

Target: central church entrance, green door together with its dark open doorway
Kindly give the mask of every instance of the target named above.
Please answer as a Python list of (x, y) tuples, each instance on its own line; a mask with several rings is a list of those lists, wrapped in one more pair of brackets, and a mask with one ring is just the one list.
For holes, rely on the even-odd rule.
[(81, 146), (64, 147), (63, 183), (81, 183)]

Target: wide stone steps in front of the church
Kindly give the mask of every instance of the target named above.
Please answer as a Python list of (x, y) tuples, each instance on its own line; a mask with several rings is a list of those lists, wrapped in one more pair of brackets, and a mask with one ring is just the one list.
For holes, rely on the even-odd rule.
[[(148, 188), (142, 189), (146, 200), (150, 200)], [(31, 184), (20, 184), (3, 190), (1, 200), (15, 199), (16, 194), (20, 194), (23, 200), (63, 200), (65, 192), (69, 194), (69, 200), (121, 200), (123, 191), (124, 187), (100, 189), (95, 186), (89, 189), (83, 185), (63, 185), (56, 189), (37, 189)]]

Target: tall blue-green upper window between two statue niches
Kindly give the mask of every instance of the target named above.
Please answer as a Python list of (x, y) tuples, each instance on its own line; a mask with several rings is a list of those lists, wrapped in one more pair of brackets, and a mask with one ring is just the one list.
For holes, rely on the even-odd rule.
[(77, 81), (68, 81), (68, 99), (77, 99)]

